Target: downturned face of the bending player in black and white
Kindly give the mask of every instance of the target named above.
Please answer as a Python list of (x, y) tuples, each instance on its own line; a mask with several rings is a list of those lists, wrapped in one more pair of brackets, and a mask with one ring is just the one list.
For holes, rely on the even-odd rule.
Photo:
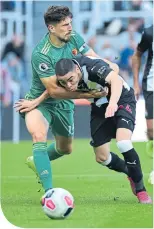
[(81, 71), (79, 68), (74, 69), (72, 72), (68, 72), (64, 76), (57, 76), (58, 82), (61, 86), (65, 87), (68, 91), (76, 91), (80, 81)]

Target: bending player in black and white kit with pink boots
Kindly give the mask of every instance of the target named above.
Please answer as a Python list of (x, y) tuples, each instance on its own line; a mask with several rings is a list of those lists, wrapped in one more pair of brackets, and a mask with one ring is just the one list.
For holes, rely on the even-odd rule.
[[(108, 95), (94, 99), (91, 105), (91, 145), (96, 161), (109, 169), (126, 173), (139, 202), (151, 204), (143, 182), (140, 159), (131, 142), (136, 115), (134, 90), (100, 58), (61, 59), (55, 72), (58, 83), (70, 92), (108, 88)], [(124, 160), (110, 152), (112, 138), (116, 138)]]

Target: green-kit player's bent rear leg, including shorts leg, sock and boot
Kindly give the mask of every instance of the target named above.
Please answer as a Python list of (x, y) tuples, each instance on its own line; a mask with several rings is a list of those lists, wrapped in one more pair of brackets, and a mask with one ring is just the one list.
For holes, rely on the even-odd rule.
[[(72, 104), (72, 103), (71, 103)], [(42, 107), (39, 107), (41, 110)], [(56, 107), (49, 107), (48, 113), (41, 110), (47, 117), (56, 142), (52, 142), (47, 148), (49, 160), (56, 160), (63, 155), (70, 154), (72, 151), (72, 140), (74, 135), (74, 106), (67, 102), (62, 102)], [(52, 117), (52, 118), (51, 118)], [(50, 121), (52, 119), (52, 121)], [(33, 157), (28, 157), (26, 164), (36, 173)]]

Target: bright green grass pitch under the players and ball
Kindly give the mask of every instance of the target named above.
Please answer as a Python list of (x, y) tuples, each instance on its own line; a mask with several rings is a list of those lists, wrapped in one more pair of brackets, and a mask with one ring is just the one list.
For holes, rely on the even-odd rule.
[[(139, 152), (147, 183), (152, 160), (145, 153), (145, 143), (134, 143)], [(152, 205), (138, 204), (126, 176), (95, 162), (89, 140), (74, 140), (74, 152), (52, 163), (54, 187), (69, 190), (75, 198), (74, 213), (65, 220), (51, 220), (44, 215), (34, 173), (24, 164), (31, 155), (31, 142), (2, 149), (1, 207), (7, 220), (22, 228), (152, 228)], [(113, 152), (118, 152), (115, 142)], [(120, 155), (120, 153), (118, 153)]]

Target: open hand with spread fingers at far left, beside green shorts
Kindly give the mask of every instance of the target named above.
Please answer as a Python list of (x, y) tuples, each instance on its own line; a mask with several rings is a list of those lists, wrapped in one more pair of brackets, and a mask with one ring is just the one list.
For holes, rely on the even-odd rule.
[(34, 100), (27, 100), (27, 99), (20, 99), (18, 102), (14, 104), (14, 108), (16, 112), (24, 113), (29, 112), (38, 106), (37, 99)]

